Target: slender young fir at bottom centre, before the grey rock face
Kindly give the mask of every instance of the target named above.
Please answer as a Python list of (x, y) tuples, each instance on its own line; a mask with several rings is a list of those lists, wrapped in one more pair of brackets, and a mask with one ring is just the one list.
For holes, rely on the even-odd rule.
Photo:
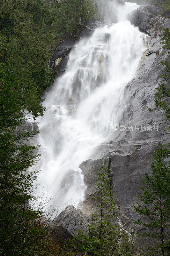
[(89, 256), (140, 255), (135, 252), (127, 232), (115, 224), (117, 215), (112, 194), (111, 159), (108, 164), (104, 157), (100, 160), (96, 177), (97, 195), (93, 196), (94, 207), (86, 223), (87, 230), (79, 230), (71, 244), (77, 252), (85, 251)]

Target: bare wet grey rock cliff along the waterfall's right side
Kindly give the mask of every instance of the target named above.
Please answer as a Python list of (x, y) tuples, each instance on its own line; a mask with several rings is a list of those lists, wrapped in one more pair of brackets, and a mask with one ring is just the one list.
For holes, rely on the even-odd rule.
[[(83, 219), (86, 218), (85, 215), (92, 207), (92, 195), (96, 193), (95, 177), (99, 170), (100, 157), (105, 153), (106, 158), (109, 160), (110, 157), (111, 160), (110, 173), (119, 218), (129, 228), (142, 229), (142, 227), (134, 227), (130, 220), (130, 218), (137, 219), (133, 205), (138, 201), (140, 177), (143, 177), (145, 172), (151, 172), (150, 163), (158, 143), (165, 145), (168, 141), (160, 112), (153, 111), (151, 114), (148, 111), (148, 108), (154, 107), (155, 88), (158, 86), (158, 77), (163, 72), (161, 63), (167, 58), (166, 50), (161, 48), (160, 39), (162, 29), (166, 26), (170, 27), (170, 19), (163, 17), (161, 13), (162, 9), (157, 6), (144, 5), (127, 15), (134, 26), (138, 26), (150, 36), (150, 42), (139, 62), (136, 77), (126, 85), (124, 90), (124, 113), (120, 122), (124, 128), (118, 127), (100, 147), (96, 148), (99, 159), (89, 159), (80, 164), (87, 189), (85, 202), (80, 205), (81, 211), (78, 210), (79, 212), (76, 213), (77, 218), (81, 219), (82, 216)], [(100, 22), (97, 24), (101, 25)], [(92, 25), (83, 33), (88, 35), (93, 29)], [(63, 48), (60, 50), (65, 51)], [(57, 59), (57, 61), (60, 60)], [(54, 60), (50, 63), (56, 65)], [(61, 71), (63, 70), (62, 67)], [(159, 125), (160, 123), (162, 124)], [(68, 212), (68, 209), (66, 208), (65, 211)], [(59, 219), (65, 218), (65, 211), (55, 221), (56, 225), (63, 225), (64, 228), (66, 228), (65, 224), (62, 224)], [(68, 214), (66, 215), (68, 218)], [(83, 220), (81, 226), (82, 224)], [(68, 225), (67, 230), (70, 228)]]

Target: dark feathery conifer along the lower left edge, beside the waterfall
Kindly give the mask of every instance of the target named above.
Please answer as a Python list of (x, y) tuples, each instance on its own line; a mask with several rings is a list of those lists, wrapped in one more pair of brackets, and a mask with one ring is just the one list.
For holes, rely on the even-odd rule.
[[(49, 223), (47, 214), (42, 213), (43, 205), (38, 210), (30, 207), (39, 171), (28, 171), (39, 155), (29, 141), (37, 132), (21, 132), (26, 114), (9, 82), (0, 91), (0, 105), (0, 255), (38, 256), (37, 248), (47, 237)], [(41, 243), (41, 251), (47, 244)]]

